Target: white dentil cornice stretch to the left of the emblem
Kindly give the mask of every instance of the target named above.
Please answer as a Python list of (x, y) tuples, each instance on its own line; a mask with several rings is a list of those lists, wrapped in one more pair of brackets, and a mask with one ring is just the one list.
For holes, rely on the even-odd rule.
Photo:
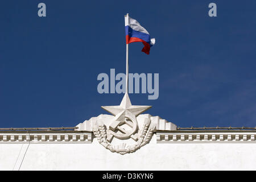
[(18, 133), (8, 132), (0, 133), (0, 143), (92, 143), (92, 132), (75, 131), (72, 133), (59, 133), (51, 131), (51, 133)]

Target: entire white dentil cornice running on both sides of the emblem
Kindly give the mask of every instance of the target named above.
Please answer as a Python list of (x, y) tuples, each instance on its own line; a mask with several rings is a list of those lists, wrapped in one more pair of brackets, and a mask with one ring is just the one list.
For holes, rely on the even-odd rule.
[[(256, 131), (161, 131), (156, 143), (256, 143)], [(1, 131), (1, 143), (92, 143), (90, 131)]]

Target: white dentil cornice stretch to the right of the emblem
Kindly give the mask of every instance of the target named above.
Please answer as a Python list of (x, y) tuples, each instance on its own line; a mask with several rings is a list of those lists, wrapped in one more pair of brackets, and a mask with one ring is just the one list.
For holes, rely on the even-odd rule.
[(156, 143), (255, 142), (256, 131), (156, 131)]

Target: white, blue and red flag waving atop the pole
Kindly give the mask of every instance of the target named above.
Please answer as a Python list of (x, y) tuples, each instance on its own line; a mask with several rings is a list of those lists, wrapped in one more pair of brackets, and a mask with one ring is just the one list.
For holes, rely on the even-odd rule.
[(149, 55), (150, 47), (155, 45), (155, 38), (151, 39), (148, 31), (137, 22), (137, 20), (125, 15), (125, 35), (126, 44), (142, 42), (144, 44), (142, 52)]

